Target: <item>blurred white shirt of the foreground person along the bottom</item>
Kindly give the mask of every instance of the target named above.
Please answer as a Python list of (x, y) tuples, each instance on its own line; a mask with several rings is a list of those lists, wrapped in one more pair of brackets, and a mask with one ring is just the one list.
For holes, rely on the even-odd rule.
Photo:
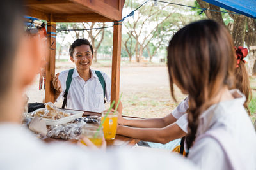
[(0, 169), (193, 170), (193, 162), (155, 150), (90, 150), (70, 143), (43, 143), (17, 124), (0, 124)]

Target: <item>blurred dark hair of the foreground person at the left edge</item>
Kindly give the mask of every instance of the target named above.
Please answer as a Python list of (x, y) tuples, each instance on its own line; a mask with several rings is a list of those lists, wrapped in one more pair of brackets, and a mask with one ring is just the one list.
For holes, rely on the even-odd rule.
[[(12, 80), (13, 61), (17, 55), (17, 47), (20, 43), (23, 24), (23, 1), (3, 0), (0, 1), (0, 94), (3, 97), (10, 81)], [(22, 30), (23, 29), (23, 30)]]

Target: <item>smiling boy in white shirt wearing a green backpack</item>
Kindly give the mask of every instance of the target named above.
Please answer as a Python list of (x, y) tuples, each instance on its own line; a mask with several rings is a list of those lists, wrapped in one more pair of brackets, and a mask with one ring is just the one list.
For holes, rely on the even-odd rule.
[[(52, 82), (56, 90), (55, 99), (58, 101), (63, 96), (65, 98), (66, 81), (68, 73), (70, 73), (72, 81), (66, 96), (67, 108), (102, 112), (105, 110), (105, 97), (106, 101), (110, 101), (111, 79), (101, 71), (90, 69), (93, 60), (93, 47), (87, 39), (76, 39), (70, 45), (69, 52), (70, 60), (74, 62), (76, 68), (73, 73), (66, 70), (56, 74)], [(105, 86), (100, 81), (104, 81)], [(122, 112), (122, 103), (119, 104), (118, 111)]]

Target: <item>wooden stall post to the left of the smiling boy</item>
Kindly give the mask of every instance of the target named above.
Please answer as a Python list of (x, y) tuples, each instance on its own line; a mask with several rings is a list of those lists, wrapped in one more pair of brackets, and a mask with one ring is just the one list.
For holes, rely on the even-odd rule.
[(46, 82), (45, 82), (45, 102), (54, 103), (54, 87), (52, 80), (55, 76), (55, 54), (56, 54), (56, 23), (50, 14), (47, 21), (47, 40), (49, 43), (49, 57), (47, 57), (46, 65)]

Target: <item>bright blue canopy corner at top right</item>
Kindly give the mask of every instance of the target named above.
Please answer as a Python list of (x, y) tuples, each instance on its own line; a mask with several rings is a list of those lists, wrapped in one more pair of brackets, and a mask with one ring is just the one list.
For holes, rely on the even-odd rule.
[(204, 0), (226, 10), (256, 19), (256, 0)]

